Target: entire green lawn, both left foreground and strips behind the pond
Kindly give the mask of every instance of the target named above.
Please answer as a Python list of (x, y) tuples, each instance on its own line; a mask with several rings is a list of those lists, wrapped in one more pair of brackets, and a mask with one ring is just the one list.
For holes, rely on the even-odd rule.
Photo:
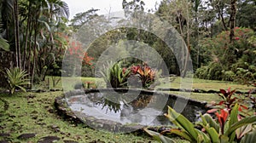
[[(51, 77), (49, 83), (41, 83), (34, 89), (62, 89), (62, 82), (68, 90), (72, 90), (78, 82), (96, 82), (94, 77), (64, 77), (64, 81), (60, 81), (55, 87)], [(56, 77), (61, 78), (61, 77)], [(180, 78), (177, 77), (171, 83), (166, 78), (160, 79), (160, 85), (157, 88), (180, 88)], [(48, 81), (48, 80), (47, 80)], [(102, 82), (102, 79), (98, 81)], [(100, 88), (104, 88), (102, 82)], [(255, 87), (248, 87), (237, 83), (229, 83), (222, 81), (209, 81), (202, 79), (194, 79), (192, 89), (236, 89), (240, 91), (248, 91)], [(172, 94), (181, 94), (182, 92), (171, 92)], [(59, 92), (45, 93), (18, 93), (14, 95), (0, 94), (0, 142), (1, 140), (9, 140), (10, 142), (27, 142), (34, 143), (44, 136), (57, 136), (61, 138), (58, 142), (64, 140), (75, 140), (78, 142), (156, 142), (145, 134), (113, 134), (106, 131), (98, 131), (90, 129), (84, 124), (75, 124), (65, 121), (58, 116), (54, 109), (55, 97), (62, 94)], [(191, 99), (210, 102), (218, 101), (217, 94), (190, 94)], [(33, 133), (35, 137), (27, 140), (20, 140), (20, 134)], [(1, 134), (9, 134), (7, 137)], [(186, 142), (185, 140), (176, 139), (177, 142)]]

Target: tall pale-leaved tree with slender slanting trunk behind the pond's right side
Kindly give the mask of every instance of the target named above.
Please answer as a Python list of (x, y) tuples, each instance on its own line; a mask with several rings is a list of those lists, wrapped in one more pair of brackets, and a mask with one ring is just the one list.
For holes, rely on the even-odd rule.
[[(196, 3), (196, 7), (198, 3)], [(193, 31), (192, 26), (194, 25), (192, 11), (192, 4), (187, 0), (166, 0), (160, 4), (160, 9), (156, 13), (162, 19), (168, 20), (177, 29), (187, 44), (187, 49), (180, 49), (182, 51), (181, 57), (183, 57), (183, 77), (186, 75), (189, 55), (191, 53), (190, 37)]]

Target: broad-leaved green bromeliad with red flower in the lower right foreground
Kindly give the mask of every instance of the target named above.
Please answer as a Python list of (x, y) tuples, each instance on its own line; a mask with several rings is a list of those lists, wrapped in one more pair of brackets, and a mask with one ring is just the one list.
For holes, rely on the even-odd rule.
[[(168, 108), (166, 117), (175, 125), (177, 128), (167, 129), (164, 133), (177, 134), (189, 142), (216, 142), (216, 143), (229, 143), (229, 142), (251, 142), (256, 140), (256, 129), (255, 122), (256, 116), (244, 117), (238, 121), (239, 106), (236, 104), (233, 107), (230, 115), (225, 112), (224, 109), (221, 113), (217, 113), (218, 123), (212, 119), (209, 114), (201, 115), (201, 122), (199, 123), (204, 132), (195, 129), (194, 124), (191, 123), (186, 117), (183, 117), (180, 113), (177, 113), (172, 109)], [(156, 133), (152, 130), (144, 129), (148, 134), (154, 136), (155, 139), (160, 140), (164, 143), (175, 142), (171, 138), (164, 136), (163, 134)], [(241, 140), (241, 141), (240, 141)]]

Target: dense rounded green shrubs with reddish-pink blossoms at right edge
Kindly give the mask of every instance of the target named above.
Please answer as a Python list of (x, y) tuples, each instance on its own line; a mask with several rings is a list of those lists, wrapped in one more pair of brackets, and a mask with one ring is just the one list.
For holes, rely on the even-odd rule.
[(212, 61), (209, 65), (197, 69), (195, 76), (240, 83), (255, 82), (254, 31), (236, 27), (234, 43), (229, 43), (229, 32), (222, 31), (216, 37), (207, 37), (200, 41), (202, 49), (211, 49)]

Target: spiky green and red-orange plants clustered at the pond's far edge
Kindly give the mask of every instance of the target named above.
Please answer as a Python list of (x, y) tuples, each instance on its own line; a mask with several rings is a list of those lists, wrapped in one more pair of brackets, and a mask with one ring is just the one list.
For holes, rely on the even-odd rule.
[(154, 85), (157, 78), (157, 71), (152, 69), (146, 63), (132, 64), (125, 67), (127, 63), (119, 61), (103, 67), (100, 73), (108, 88), (143, 88), (148, 89)]

